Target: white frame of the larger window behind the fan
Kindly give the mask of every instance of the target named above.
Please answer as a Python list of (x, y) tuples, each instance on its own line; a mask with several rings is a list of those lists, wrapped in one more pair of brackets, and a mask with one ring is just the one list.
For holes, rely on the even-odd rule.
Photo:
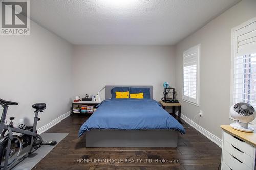
[[(231, 29), (231, 76), (230, 76), (230, 105), (229, 107), (231, 107), (234, 104), (234, 59), (236, 57), (236, 51), (238, 50), (237, 46), (237, 37), (236, 37), (236, 32), (246, 26), (251, 25), (252, 23), (256, 22), (256, 17), (242, 23), (241, 25), (234, 27)], [(229, 113), (229, 118), (234, 120), (233, 117), (231, 117), (230, 113)], [(254, 121), (252, 122), (252, 124), (256, 123), (256, 119), (254, 119)]]

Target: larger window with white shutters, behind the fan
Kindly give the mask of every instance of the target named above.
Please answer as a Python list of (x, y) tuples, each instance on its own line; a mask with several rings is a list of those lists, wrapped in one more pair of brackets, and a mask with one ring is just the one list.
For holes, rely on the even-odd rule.
[(230, 105), (245, 102), (256, 110), (256, 18), (232, 29), (231, 65)]

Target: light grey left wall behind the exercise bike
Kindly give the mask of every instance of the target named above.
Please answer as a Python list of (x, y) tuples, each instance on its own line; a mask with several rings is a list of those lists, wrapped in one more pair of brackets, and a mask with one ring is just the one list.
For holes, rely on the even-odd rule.
[(0, 37), (0, 98), (19, 103), (7, 114), (8, 122), (15, 117), (15, 125), (20, 118), (32, 124), (32, 104), (46, 103), (44, 113), (39, 113), (40, 128), (70, 110), (72, 45), (30, 24), (30, 36)]

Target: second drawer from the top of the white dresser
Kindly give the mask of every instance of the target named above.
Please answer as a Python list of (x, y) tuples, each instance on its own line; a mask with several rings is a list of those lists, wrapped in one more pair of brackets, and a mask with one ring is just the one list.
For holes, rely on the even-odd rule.
[(223, 141), (223, 149), (252, 169), (254, 163), (252, 157), (240, 151), (238, 148), (234, 147), (232, 144), (228, 143), (225, 140)]

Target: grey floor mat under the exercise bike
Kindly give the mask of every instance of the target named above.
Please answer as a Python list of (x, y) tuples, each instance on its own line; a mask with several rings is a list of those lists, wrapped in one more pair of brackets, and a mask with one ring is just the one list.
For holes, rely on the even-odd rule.
[[(42, 133), (41, 137), (44, 141), (56, 141), (57, 144), (63, 140), (68, 133)], [(57, 145), (56, 144), (56, 145)], [(14, 170), (27, 170), (32, 169), (42, 158), (44, 158), (55, 146), (45, 145), (37, 149), (34, 153), (30, 154), (26, 159), (16, 165)]]

